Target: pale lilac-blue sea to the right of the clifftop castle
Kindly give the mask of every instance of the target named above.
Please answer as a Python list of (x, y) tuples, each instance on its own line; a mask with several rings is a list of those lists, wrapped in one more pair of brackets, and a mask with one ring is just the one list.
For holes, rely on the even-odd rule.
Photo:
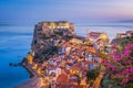
[(98, 23), (98, 24), (76, 24), (76, 34), (86, 36), (86, 32), (105, 32), (110, 40), (115, 38), (116, 33), (133, 31), (133, 23)]

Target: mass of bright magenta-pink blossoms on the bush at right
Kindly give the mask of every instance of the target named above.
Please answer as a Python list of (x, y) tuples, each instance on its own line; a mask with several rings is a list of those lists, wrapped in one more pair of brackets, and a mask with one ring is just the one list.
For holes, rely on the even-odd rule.
[(133, 42), (124, 46), (124, 51), (113, 51), (113, 59), (104, 59), (103, 63), (106, 66), (108, 73), (111, 74), (111, 78), (120, 78), (121, 84), (126, 86), (129, 81), (133, 79)]

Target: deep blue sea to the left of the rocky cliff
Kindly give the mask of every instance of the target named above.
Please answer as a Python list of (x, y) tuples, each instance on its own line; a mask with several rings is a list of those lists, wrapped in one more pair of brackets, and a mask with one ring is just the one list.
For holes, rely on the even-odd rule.
[(23, 67), (11, 67), (9, 63), (19, 63), (27, 55), (32, 32), (30, 26), (0, 26), (0, 88), (11, 88), (29, 78)]

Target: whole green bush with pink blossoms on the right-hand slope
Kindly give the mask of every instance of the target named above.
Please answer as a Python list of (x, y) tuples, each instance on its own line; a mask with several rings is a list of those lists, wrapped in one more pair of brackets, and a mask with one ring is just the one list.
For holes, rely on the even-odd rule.
[[(123, 48), (123, 50), (120, 50)], [(119, 52), (117, 52), (119, 51)], [(113, 51), (112, 56), (102, 62), (108, 72), (108, 77), (122, 87), (133, 87), (133, 41), (126, 40)]]

